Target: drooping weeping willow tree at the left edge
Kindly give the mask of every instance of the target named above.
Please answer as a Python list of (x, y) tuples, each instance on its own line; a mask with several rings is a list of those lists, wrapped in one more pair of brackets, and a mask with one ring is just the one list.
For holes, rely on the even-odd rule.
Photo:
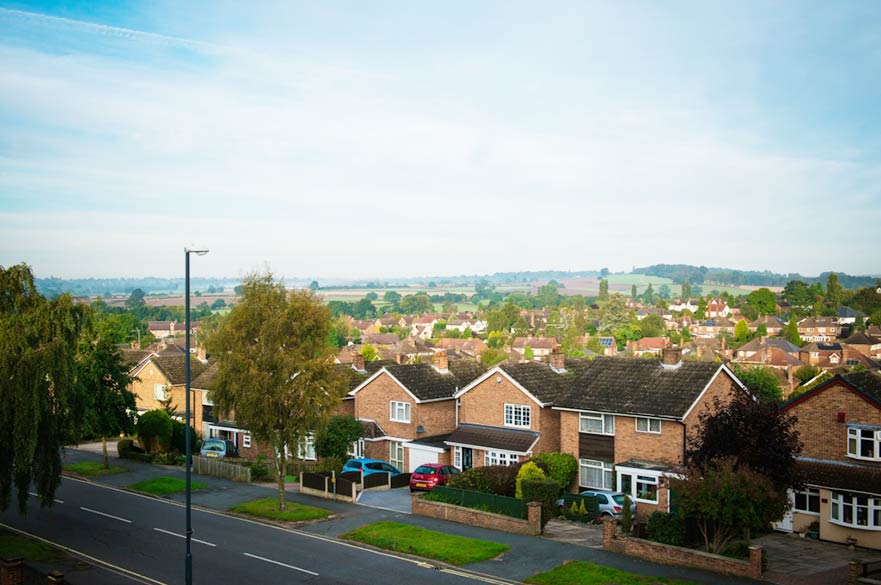
[[(47, 300), (25, 264), (0, 267), (0, 509), (13, 491), (27, 510), (33, 489), (51, 505), (61, 480), (68, 393), (87, 309), (70, 295)], [(33, 486), (33, 487), (32, 487)]]

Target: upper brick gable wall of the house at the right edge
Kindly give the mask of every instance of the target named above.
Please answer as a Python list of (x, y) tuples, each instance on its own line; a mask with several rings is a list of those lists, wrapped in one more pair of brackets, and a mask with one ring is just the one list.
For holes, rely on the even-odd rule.
[[(846, 422), (838, 422), (839, 412)], [(847, 422), (881, 425), (881, 409), (840, 383), (799, 402), (789, 413), (798, 417), (802, 456), (818, 459), (853, 461), (847, 456)]]

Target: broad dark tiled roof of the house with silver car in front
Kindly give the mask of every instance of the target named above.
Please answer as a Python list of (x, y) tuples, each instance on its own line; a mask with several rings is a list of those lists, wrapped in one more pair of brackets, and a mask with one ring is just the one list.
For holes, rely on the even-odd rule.
[(670, 368), (657, 360), (598, 357), (555, 406), (682, 418), (720, 367), (683, 361)]

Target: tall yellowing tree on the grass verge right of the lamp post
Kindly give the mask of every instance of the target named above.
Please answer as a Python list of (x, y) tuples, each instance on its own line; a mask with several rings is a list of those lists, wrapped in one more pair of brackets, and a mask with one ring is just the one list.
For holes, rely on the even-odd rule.
[(324, 426), (345, 384), (333, 367), (330, 312), (320, 300), (289, 293), (269, 273), (248, 276), (244, 287), (206, 339), (217, 358), (211, 396), (220, 412), (234, 411), (237, 423), (272, 447), (284, 510), (286, 448)]

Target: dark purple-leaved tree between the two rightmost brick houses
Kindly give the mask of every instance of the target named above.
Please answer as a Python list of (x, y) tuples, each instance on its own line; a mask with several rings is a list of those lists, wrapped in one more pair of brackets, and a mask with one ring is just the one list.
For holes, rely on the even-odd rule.
[(794, 417), (776, 404), (741, 393), (727, 406), (716, 398), (698, 415), (698, 426), (688, 438), (686, 460), (708, 469), (713, 462), (730, 458), (736, 466), (770, 478), (785, 493), (801, 485), (795, 468), (801, 449)]

